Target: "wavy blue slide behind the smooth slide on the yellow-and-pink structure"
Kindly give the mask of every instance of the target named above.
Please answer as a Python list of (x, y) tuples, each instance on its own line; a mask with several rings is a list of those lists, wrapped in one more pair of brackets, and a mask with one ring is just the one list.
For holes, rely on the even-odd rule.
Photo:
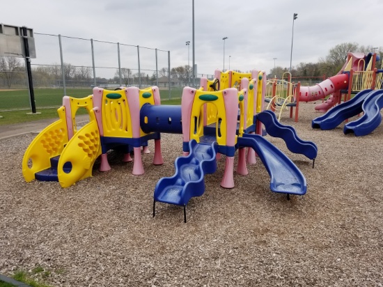
[(297, 136), (294, 127), (282, 125), (276, 119), (274, 111), (262, 111), (257, 114), (257, 119), (265, 125), (266, 132), (272, 137), (280, 137), (286, 142), (286, 146), (292, 153), (300, 153), (310, 160), (318, 155), (318, 147), (312, 141), (303, 141)]

